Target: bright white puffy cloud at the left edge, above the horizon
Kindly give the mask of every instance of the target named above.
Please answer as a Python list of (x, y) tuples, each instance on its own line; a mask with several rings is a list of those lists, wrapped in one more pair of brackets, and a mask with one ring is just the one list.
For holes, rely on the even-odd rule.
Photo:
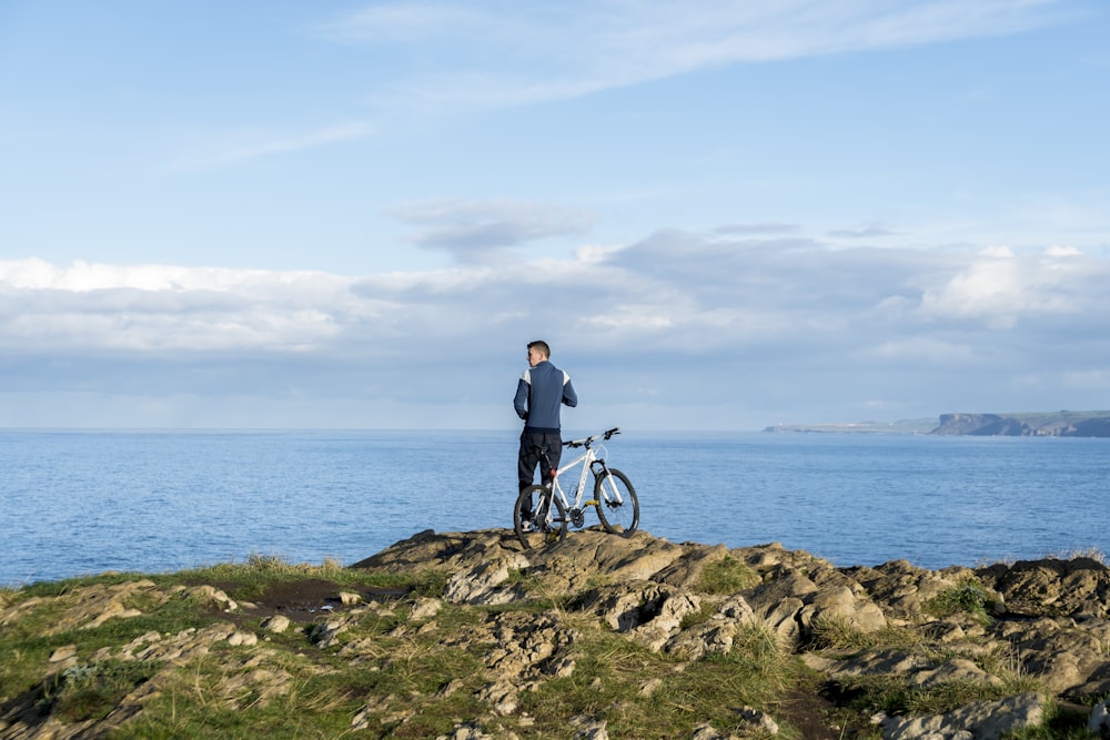
[(390, 312), (351, 278), (173, 265), (0, 262), (0, 344), (20, 349), (304, 352)]

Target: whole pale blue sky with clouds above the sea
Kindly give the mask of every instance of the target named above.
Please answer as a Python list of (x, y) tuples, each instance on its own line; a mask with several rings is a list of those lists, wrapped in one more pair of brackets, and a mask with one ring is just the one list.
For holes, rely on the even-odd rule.
[(1108, 120), (1104, 0), (0, 0), (0, 427), (1108, 409)]

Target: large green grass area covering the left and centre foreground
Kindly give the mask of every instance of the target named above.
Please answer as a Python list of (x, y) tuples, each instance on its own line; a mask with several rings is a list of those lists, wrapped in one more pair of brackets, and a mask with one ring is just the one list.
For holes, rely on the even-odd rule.
[[(730, 589), (739, 572), (734, 561), (717, 578)], [(230, 618), (181, 586), (210, 584), (243, 601), (272, 584), (301, 578), (405, 595), (387, 609), (367, 609), (351, 620), (325, 649), (311, 643), (307, 630), (291, 630), (254, 647), (215, 642), (179, 665), (117, 657), (119, 646), (147, 632), (171, 636)], [(147, 579), (152, 585), (138, 585)], [(534, 591), (535, 602), (516, 609), (446, 605), (421, 624), (405, 619), (408, 605), (417, 595), (442, 590), (441, 574), (367, 574), (252, 558), (174, 575), (113, 574), (36, 585), (4, 594), (6, 608), (21, 608), (21, 618), (0, 632), (0, 701), (37, 706), (74, 722), (102, 720), (123, 697), (147, 693), (142, 711), (111, 731), (115, 738), (427, 738), (452, 733), (463, 719), (493, 734), (572, 738), (581, 729), (572, 719), (582, 717), (603, 719), (612, 737), (653, 738), (688, 736), (705, 721), (730, 731), (738, 727), (736, 708), (769, 707), (797, 673), (796, 660), (763, 628), (746, 627), (729, 653), (688, 665), (566, 609), (566, 595), (556, 595), (541, 578), (516, 574), (514, 579)], [(89, 589), (109, 586), (130, 588), (129, 602), (142, 616), (46, 633)], [(539, 612), (537, 602), (548, 608)], [(473, 638), (503, 619), (527, 624), (542, 615), (569, 630), (564, 647), (575, 670), (511, 678), (514, 690), (532, 689), (519, 698), (523, 714), (500, 717), (478, 699), (496, 675), (486, 661), (497, 641)], [(250, 617), (238, 619), (262, 633)], [(63, 645), (77, 646), (65, 668), (49, 662)], [(98, 655), (110, 657), (94, 659), (101, 648), (109, 649)], [(797, 736), (787, 729), (780, 737)]]

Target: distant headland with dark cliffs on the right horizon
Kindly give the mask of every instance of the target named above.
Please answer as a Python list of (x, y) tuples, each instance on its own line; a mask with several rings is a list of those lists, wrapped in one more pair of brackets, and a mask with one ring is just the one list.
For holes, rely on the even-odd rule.
[(941, 414), (900, 422), (776, 424), (764, 432), (935, 434), (980, 437), (1110, 437), (1110, 412), (1031, 412), (1022, 414)]

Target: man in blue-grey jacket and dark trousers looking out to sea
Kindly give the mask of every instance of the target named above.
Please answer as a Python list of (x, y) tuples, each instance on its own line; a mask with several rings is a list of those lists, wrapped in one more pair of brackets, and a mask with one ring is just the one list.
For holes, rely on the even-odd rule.
[[(521, 452), (517, 456), (517, 478), (521, 490), (532, 485), (539, 465), (541, 480), (551, 479), (552, 468), (558, 468), (563, 454), (563, 438), (559, 435), (559, 405), (574, 407), (578, 405), (578, 395), (571, 384), (571, 376), (551, 364), (552, 351), (546, 342), (528, 343), (528, 369), (516, 384), (516, 397), (513, 406), (516, 415), (524, 419), (524, 432), (521, 433)], [(536, 446), (547, 450), (545, 460)], [(526, 519), (532, 518), (531, 505), (522, 511)]]

